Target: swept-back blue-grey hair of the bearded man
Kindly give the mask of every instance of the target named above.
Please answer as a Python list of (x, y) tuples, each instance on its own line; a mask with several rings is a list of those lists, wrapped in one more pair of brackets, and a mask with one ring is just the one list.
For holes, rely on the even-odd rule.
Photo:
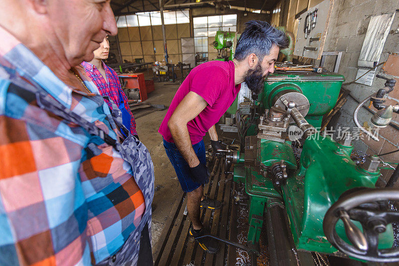
[(273, 45), (279, 48), (288, 47), (288, 38), (281, 30), (266, 21), (250, 20), (245, 23), (245, 30), (238, 39), (234, 58), (242, 61), (250, 53), (256, 54), (259, 61), (270, 53)]

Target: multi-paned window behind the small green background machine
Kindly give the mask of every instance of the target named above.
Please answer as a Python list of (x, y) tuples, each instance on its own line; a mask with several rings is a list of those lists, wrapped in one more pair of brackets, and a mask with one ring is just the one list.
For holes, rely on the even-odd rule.
[(194, 27), (194, 46), (196, 53), (201, 53), (202, 57), (208, 56), (209, 37), (216, 36), (216, 31), (236, 31), (237, 15), (214, 15), (199, 16), (193, 18)]

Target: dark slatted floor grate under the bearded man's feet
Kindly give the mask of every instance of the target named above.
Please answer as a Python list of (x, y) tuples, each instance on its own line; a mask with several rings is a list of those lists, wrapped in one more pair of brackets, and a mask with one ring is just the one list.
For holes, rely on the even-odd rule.
[[(232, 194), (234, 184), (227, 181), (223, 174), (223, 163), (217, 172), (210, 177), (204, 187), (204, 193), (222, 203), (219, 210), (201, 210), (201, 221), (209, 225), (211, 234), (229, 239), (232, 221)], [(227, 264), (228, 253), (235, 258), (235, 248), (219, 244), (219, 252), (215, 255), (204, 253), (194, 238), (189, 236), (190, 219), (185, 215), (186, 193), (180, 193), (173, 205), (158, 244), (154, 248), (155, 266), (222, 266)]]

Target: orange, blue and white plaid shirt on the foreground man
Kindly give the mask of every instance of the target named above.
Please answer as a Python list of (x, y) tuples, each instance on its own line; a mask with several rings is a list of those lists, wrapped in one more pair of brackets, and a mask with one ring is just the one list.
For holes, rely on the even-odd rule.
[(141, 231), (151, 226), (148, 150), (131, 143), (136, 159), (127, 162), (99, 136), (39, 108), (40, 90), (117, 139), (82, 67), (97, 94), (66, 86), (1, 27), (0, 39), (0, 265), (90, 265), (114, 254), (117, 265), (135, 265)]

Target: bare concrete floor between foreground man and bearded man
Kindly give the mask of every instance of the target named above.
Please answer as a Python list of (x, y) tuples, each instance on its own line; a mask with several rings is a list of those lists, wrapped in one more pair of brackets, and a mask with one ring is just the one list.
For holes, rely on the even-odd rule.
[[(171, 83), (156, 82), (155, 91), (148, 95), (146, 103), (169, 106), (179, 88), (178, 84)], [(153, 201), (151, 241), (153, 247), (158, 242), (170, 209), (176, 200), (176, 195), (181, 189), (175, 169), (165, 153), (162, 136), (158, 133), (158, 129), (167, 111), (168, 109), (157, 111), (136, 119), (139, 138), (148, 150), (150, 150), (151, 158), (154, 162), (155, 195)], [(141, 113), (146, 113), (146, 111), (142, 111)]]

